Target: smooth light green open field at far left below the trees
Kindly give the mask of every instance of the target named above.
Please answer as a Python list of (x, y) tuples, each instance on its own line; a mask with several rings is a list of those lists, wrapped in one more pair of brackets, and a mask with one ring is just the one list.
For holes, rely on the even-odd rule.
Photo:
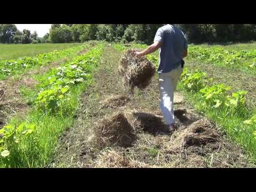
[(0, 60), (35, 56), (39, 53), (67, 49), (75, 45), (79, 45), (79, 43), (0, 44)]

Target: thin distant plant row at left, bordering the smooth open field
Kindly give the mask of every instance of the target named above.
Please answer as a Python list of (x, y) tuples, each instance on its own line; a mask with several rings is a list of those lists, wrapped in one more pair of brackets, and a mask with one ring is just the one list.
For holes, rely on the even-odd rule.
[(61, 51), (55, 50), (49, 53), (41, 53), (35, 57), (20, 57), (17, 60), (0, 61), (0, 79), (4, 79), (8, 76), (16, 74), (21, 74), (26, 70), (47, 65), (47, 63), (53, 61), (69, 58), (87, 47), (89, 47), (89, 44), (70, 47)]

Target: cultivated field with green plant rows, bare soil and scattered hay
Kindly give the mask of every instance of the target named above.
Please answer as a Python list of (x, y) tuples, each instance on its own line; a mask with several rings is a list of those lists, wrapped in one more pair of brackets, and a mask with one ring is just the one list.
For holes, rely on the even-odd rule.
[[(247, 65), (233, 67), (253, 62), (253, 52), (249, 59), (225, 60), (227, 65), (218, 57), (233, 59), (233, 52), (194, 50), (174, 94), (179, 129), (163, 135), (158, 76), (132, 94), (118, 74), (123, 51), (131, 47), (146, 45), (88, 42), (0, 81), (0, 167), (256, 167), (256, 79)], [(218, 57), (209, 60), (213, 53)], [(157, 52), (147, 58), (157, 65)], [(214, 87), (222, 83), (230, 89)], [(99, 145), (97, 130), (111, 123), (130, 129), (120, 136), (125, 145)]]

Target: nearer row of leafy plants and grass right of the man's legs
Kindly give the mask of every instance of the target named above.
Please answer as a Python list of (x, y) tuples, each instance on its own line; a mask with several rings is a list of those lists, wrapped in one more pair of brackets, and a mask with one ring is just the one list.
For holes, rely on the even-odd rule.
[(213, 119), (255, 161), (256, 110), (246, 103), (247, 92), (231, 92), (230, 86), (212, 81), (201, 70), (189, 71), (185, 68), (178, 90), (185, 95), (187, 102), (193, 103), (197, 110)]

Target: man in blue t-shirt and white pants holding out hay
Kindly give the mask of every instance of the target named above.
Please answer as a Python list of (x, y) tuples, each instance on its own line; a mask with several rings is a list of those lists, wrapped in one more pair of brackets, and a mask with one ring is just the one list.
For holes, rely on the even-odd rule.
[(157, 30), (154, 43), (146, 50), (135, 52), (136, 57), (142, 57), (159, 52), (159, 91), (161, 95), (161, 110), (167, 124), (167, 133), (177, 129), (174, 119), (173, 97), (179, 77), (183, 71), (183, 58), (187, 57), (188, 42), (183, 32), (174, 25), (165, 25)]

